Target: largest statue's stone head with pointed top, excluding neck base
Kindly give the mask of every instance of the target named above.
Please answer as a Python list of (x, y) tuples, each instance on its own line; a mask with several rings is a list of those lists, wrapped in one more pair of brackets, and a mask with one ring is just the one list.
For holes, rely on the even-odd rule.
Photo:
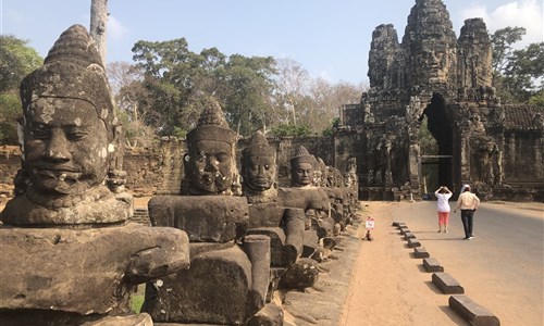
[(38, 193), (82, 195), (104, 183), (119, 130), (110, 87), (85, 27), (66, 29), (21, 84), (23, 166)]

